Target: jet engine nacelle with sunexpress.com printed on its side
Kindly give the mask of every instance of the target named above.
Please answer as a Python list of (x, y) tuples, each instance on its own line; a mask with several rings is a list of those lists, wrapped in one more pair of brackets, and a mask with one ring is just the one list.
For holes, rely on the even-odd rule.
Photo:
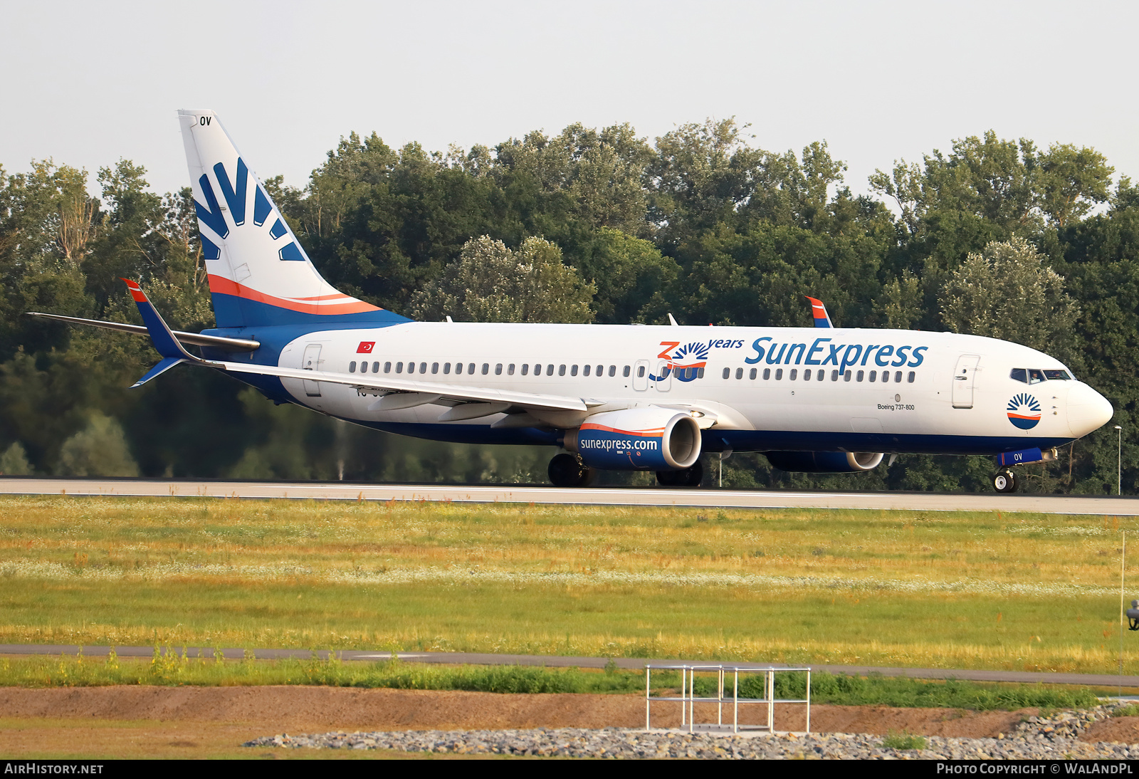
[(691, 416), (656, 405), (603, 411), (566, 430), (564, 445), (591, 468), (680, 470), (700, 456), (700, 428)]

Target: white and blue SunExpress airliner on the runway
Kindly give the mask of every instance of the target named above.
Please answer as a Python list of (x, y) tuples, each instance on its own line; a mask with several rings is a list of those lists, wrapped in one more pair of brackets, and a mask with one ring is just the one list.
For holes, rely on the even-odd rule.
[(994, 456), (993, 485), (1011, 492), (1009, 466), (1055, 459), (1113, 413), (1042, 352), (834, 328), (813, 298), (816, 328), (411, 321), (321, 278), (212, 112), (179, 121), (216, 328), (172, 333), (132, 281), (145, 328), (38, 314), (148, 331), (163, 359), (134, 386), (186, 362), (366, 427), (558, 446), (559, 486), (585, 485), (596, 469), (696, 486), (702, 452), (764, 452), (810, 473), (869, 470), (906, 452)]

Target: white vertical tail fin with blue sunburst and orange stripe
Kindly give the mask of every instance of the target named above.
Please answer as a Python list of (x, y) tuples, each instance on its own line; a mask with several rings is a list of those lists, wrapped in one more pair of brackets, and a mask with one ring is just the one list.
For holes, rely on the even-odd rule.
[(213, 112), (178, 118), (219, 328), (408, 321), (320, 276)]

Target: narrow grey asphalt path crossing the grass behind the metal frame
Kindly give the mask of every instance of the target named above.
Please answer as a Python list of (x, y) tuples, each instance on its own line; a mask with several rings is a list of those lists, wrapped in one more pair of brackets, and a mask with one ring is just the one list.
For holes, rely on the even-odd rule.
[[(115, 647), (115, 655), (118, 657), (153, 657), (154, 647)], [(181, 654), (183, 647), (166, 647), (163, 651)], [(227, 659), (243, 659), (247, 657), (245, 649), (214, 649), (210, 647), (186, 647), (188, 657), (213, 658), (215, 653), (221, 651)], [(44, 643), (0, 643), (0, 656), (2, 655), (77, 655), (80, 647), (74, 645), (44, 645)], [(110, 647), (82, 647), (84, 657), (106, 657)], [(320, 659), (328, 659), (329, 654), (334, 654), (345, 662), (377, 662), (400, 659), (405, 663), (433, 663), (437, 665), (538, 665), (551, 669), (604, 669), (611, 662), (620, 669), (630, 671), (642, 671), (647, 663), (690, 663), (699, 665), (716, 666), (721, 662), (726, 665), (740, 667), (769, 669), (784, 667), (779, 663), (746, 663), (737, 661), (707, 661), (707, 659), (675, 659), (675, 658), (640, 658), (640, 657), (563, 657), (560, 655), (492, 655), (486, 653), (469, 651), (367, 651), (367, 650), (337, 650), (330, 653), (327, 649), (312, 651), (309, 649), (253, 649), (253, 656), (257, 659), (310, 659), (317, 655)], [(801, 666), (796, 666), (801, 667)], [(970, 669), (904, 669), (875, 665), (811, 665), (812, 671), (826, 671), (827, 673), (844, 673), (846, 675), (866, 675), (868, 673), (879, 673), (883, 676), (909, 676), (910, 679), (962, 679), (967, 681), (982, 682), (1019, 682), (1025, 684), (1080, 684), (1084, 687), (1123, 687), (1128, 689), (1139, 688), (1139, 676), (1121, 676), (1109, 673), (1043, 673), (1030, 671), (977, 671)]]

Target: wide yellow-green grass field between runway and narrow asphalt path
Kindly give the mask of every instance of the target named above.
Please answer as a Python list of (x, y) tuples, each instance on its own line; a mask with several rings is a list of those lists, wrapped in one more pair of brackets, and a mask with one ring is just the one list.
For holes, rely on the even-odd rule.
[(63, 497), (0, 498), (0, 642), (1085, 672), (1117, 671), (1121, 531), (1139, 526)]

